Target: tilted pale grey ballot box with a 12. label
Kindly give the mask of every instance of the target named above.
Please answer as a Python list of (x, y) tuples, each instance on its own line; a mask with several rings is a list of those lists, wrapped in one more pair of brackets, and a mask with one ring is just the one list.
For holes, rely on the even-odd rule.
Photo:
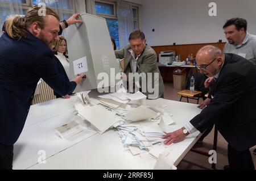
[[(81, 14), (82, 24), (67, 28), (67, 42), (71, 81), (77, 73), (85, 73), (86, 79), (74, 92), (114, 86), (119, 72), (108, 26), (104, 18)], [(110, 77), (110, 70), (111, 75)], [(104, 85), (102, 85), (102, 82)]]

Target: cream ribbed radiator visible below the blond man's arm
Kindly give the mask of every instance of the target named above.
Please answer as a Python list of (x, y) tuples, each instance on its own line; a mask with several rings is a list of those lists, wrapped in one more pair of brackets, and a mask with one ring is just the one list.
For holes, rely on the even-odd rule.
[(56, 99), (51, 87), (49, 87), (43, 79), (40, 79), (40, 82), (41, 83), (38, 83), (38, 86), (36, 87), (34, 99), (31, 104), (38, 104), (46, 102), (47, 100)]

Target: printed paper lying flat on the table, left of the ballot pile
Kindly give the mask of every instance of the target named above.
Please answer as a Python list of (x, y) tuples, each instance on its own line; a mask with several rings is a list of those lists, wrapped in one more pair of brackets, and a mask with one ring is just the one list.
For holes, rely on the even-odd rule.
[(63, 124), (60, 127), (55, 128), (57, 133), (61, 138), (69, 138), (79, 132), (84, 131), (84, 128), (80, 124), (78, 124), (75, 120), (71, 121), (67, 124)]

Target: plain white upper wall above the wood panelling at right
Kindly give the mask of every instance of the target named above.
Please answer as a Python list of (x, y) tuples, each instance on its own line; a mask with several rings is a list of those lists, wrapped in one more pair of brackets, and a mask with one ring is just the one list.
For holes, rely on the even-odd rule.
[[(217, 3), (217, 16), (208, 15), (210, 2)], [(256, 34), (255, 0), (143, 0), (140, 28), (151, 46), (224, 42), (222, 26), (235, 17)]]

